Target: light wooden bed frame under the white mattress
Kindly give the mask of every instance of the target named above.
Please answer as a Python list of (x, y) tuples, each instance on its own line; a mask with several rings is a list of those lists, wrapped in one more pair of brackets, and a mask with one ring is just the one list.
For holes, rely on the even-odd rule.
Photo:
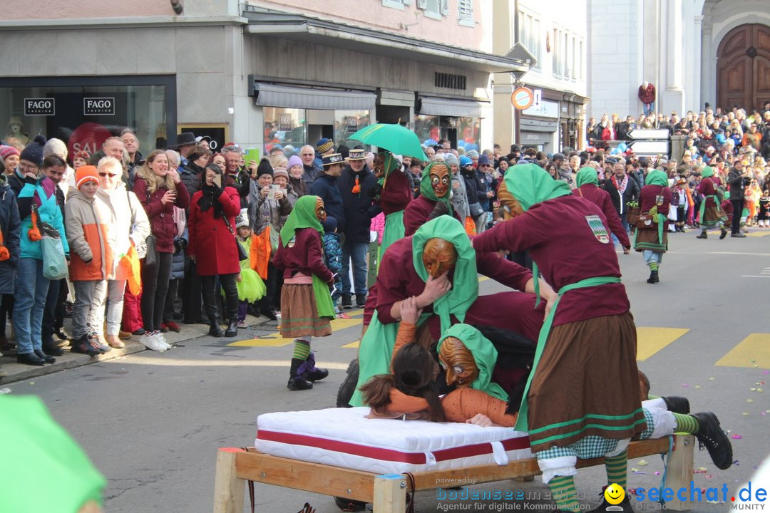
[[(674, 435), (654, 440), (632, 441), (628, 459), (668, 453), (665, 486), (681, 488), (692, 478), (695, 437)], [(578, 467), (603, 465), (603, 458), (578, 460)], [(439, 488), (447, 479), (475, 479), (475, 483), (506, 479), (531, 480), (541, 473), (537, 459), (511, 461), (507, 465), (479, 465), (414, 474), (415, 491)], [(265, 455), (254, 448), (220, 448), (216, 455), (214, 513), (243, 513), (246, 481), (296, 488), (297, 490), (370, 502), (374, 513), (403, 513), (410, 490), (404, 475), (377, 475), (350, 468)], [(446, 487), (446, 485), (444, 485)], [(668, 501), (668, 509), (682, 511), (681, 501)]]

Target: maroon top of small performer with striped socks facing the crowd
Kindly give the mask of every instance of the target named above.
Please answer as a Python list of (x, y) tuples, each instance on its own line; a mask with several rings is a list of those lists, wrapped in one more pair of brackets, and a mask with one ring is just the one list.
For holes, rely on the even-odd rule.
[(296, 273), (316, 275), (326, 283), (333, 283), (333, 274), (323, 263), (321, 236), (313, 228), (297, 228), (294, 240), (286, 247), (279, 239), (278, 249), (273, 255), (273, 265), (283, 269), (283, 279), (291, 278)]

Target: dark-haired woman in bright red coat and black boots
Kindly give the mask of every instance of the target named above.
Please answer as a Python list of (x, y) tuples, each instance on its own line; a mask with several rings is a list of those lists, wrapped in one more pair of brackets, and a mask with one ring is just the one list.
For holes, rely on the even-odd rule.
[(225, 291), (228, 321), (224, 335), (234, 337), (238, 333), (238, 288), (240, 263), (235, 240), (235, 216), (240, 212), (240, 196), (236, 188), (222, 187), (222, 168), (209, 164), (203, 171), (201, 188), (192, 195), (190, 216), (187, 221), (189, 245), (187, 251), (196, 262), (203, 289), (203, 306), (209, 316), (209, 335), (221, 337), (219, 328), (219, 301), (215, 295), (215, 282)]

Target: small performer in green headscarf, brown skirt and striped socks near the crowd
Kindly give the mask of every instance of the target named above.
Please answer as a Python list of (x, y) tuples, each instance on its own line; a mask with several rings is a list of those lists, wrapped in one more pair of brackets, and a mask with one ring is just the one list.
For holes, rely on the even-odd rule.
[(281, 228), (273, 264), (283, 269), (281, 290), (281, 336), (294, 338), (294, 355), (289, 371), (289, 390), (313, 388), (313, 381), (326, 378), (329, 371), (317, 368), (310, 341), (332, 334), (330, 320), (334, 307), (329, 286), (332, 271), (323, 261), (321, 222), (326, 220), (323, 201), (303, 196)]

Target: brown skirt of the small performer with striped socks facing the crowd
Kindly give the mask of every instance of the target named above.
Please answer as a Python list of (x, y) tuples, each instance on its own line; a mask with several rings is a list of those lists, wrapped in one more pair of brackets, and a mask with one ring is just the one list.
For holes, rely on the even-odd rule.
[(330, 318), (318, 317), (313, 285), (284, 284), (281, 290), (281, 336), (326, 337), (331, 334)]

